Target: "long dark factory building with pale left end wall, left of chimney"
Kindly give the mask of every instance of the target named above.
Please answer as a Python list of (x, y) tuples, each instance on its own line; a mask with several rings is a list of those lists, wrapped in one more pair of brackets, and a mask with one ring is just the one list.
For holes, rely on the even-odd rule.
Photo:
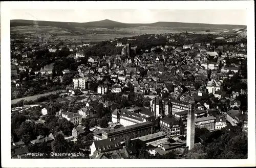
[(135, 124), (123, 128), (118, 128), (114, 130), (106, 130), (102, 131), (102, 140), (103, 139), (119, 139), (120, 141), (125, 141), (127, 137), (131, 139), (135, 139), (141, 136), (145, 136), (148, 134), (153, 134), (154, 123), (152, 122), (144, 122), (140, 124)]

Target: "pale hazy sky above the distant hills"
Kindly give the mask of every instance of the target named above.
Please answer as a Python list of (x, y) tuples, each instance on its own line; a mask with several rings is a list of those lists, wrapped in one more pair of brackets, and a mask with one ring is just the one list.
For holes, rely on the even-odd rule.
[(11, 10), (10, 19), (89, 22), (104, 19), (124, 23), (153, 23), (177, 21), (247, 25), (246, 10), (164, 10), (164, 9), (114, 9), (114, 10)]

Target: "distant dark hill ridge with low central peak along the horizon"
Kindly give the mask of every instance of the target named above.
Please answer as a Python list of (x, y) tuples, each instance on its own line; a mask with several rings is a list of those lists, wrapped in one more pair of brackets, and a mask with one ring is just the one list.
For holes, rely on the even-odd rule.
[(230, 29), (230, 28), (246, 28), (244, 25), (212, 25), (205, 23), (183, 23), (183, 22), (164, 22), (159, 21), (155, 23), (122, 23), (113, 20), (100, 20), (91, 22), (58, 22), (58, 21), (34, 21), (34, 20), (11, 20), (11, 27), (18, 26), (52, 26), (59, 28), (71, 28), (71, 27), (81, 27), (81, 28), (130, 28), (139, 26), (148, 27), (188, 27), (188, 28), (220, 28), (220, 29)]

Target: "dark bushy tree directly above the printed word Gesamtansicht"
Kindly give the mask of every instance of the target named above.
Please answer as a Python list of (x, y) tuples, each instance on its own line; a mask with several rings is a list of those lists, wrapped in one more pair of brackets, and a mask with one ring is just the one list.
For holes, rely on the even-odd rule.
[(53, 140), (51, 146), (54, 153), (66, 153), (68, 149), (68, 142), (63, 135), (58, 134)]

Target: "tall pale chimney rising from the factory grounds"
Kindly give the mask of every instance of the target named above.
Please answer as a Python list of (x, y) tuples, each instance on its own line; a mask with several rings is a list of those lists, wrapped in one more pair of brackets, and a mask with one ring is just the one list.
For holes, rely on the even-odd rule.
[(195, 145), (195, 111), (194, 111), (195, 100), (192, 98), (189, 101), (189, 108), (187, 114), (187, 147), (188, 150), (194, 148)]

